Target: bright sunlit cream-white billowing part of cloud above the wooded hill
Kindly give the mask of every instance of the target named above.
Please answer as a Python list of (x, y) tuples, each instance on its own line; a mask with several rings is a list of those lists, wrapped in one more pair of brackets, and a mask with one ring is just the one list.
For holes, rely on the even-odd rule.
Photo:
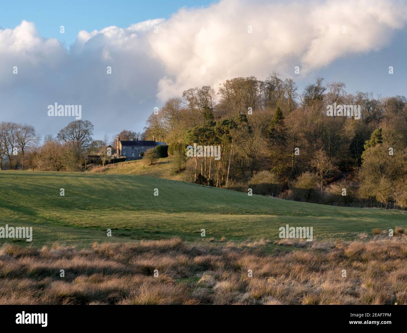
[(149, 36), (165, 68), (158, 96), (236, 76), (264, 78), (273, 70), (292, 76), (294, 65), (306, 74), (347, 54), (379, 50), (406, 20), (405, 4), (387, 0), (223, 0), (206, 9), (182, 9)]

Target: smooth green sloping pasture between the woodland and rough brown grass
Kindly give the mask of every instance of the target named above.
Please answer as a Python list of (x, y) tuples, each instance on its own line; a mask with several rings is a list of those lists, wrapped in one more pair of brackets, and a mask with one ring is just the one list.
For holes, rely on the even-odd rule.
[[(65, 196), (60, 196), (60, 189)], [(154, 196), (154, 189), (158, 196)], [(0, 172), (0, 226), (33, 226), (33, 245), (127, 242), (179, 236), (277, 239), (278, 228), (313, 226), (314, 239), (354, 239), (407, 227), (407, 214), (248, 196), (168, 179), (80, 172)], [(112, 237), (106, 230), (112, 229)], [(0, 243), (10, 239), (0, 239)], [(18, 240), (18, 244), (29, 244)]]

